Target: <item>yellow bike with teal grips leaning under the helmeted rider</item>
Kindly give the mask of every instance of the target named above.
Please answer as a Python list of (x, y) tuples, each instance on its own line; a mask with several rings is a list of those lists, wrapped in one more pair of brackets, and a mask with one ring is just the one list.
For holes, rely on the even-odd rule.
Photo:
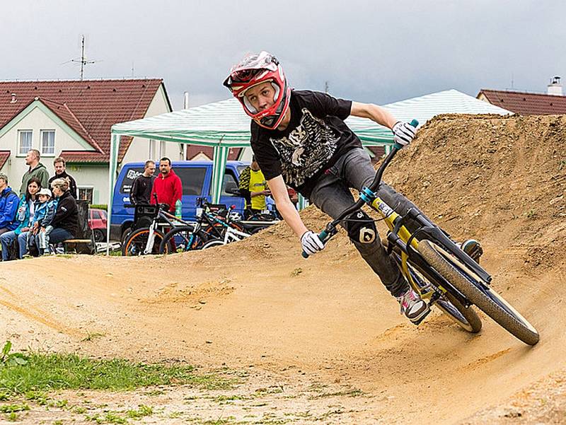
[[(418, 122), (411, 122), (417, 127)], [(386, 250), (414, 291), (436, 305), (468, 332), (480, 332), (482, 322), (472, 305), (495, 320), (525, 344), (535, 345), (537, 330), (490, 285), (492, 276), (461, 250), (450, 235), (429, 221), (420, 211), (409, 209), (403, 216), (383, 202), (376, 192), (381, 177), (403, 146), (395, 144), (376, 172), (374, 181), (359, 193), (359, 199), (327, 224), (318, 237), (327, 243), (337, 233), (337, 225), (364, 204), (374, 209), (388, 227)], [(306, 252), (303, 257), (308, 257)]]

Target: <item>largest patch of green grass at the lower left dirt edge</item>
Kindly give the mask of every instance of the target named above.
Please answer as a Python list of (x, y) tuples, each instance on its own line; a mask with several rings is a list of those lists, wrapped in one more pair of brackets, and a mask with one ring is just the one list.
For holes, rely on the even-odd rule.
[(52, 390), (127, 391), (175, 384), (219, 390), (230, 389), (235, 383), (233, 379), (217, 375), (197, 374), (193, 366), (133, 363), (125, 359), (96, 360), (75, 354), (35, 352), (17, 359), (18, 362), (0, 363), (0, 400), (26, 395), (28, 400), (40, 401), (45, 399), (42, 392)]

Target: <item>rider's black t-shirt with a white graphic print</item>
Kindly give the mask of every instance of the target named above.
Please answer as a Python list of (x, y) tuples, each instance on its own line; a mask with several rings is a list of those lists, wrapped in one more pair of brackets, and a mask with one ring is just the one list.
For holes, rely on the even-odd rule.
[(362, 142), (345, 124), (352, 101), (316, 91), (291, 91), (291, 121), (283, 131), (251, 124), (250, 144), (266, 180), (282, 175), (309, 197), (318, 177)]

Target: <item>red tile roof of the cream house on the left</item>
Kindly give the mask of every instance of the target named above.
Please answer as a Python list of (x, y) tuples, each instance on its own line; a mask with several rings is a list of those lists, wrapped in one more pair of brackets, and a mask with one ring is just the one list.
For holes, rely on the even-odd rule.
[[(0, 128), (37, 98), (96, 150), (96, 154), (75, 151), (65, 157), (67, 161), (108, 163), (110, 127), (143, 118), (162, 83), (157, 78), (0, 81)], [(16, 94), (15, 103), (11, 102), (12, 93)], [(131, 143), (131, 137), (122, 137), (118, 161), (122, 161)]]

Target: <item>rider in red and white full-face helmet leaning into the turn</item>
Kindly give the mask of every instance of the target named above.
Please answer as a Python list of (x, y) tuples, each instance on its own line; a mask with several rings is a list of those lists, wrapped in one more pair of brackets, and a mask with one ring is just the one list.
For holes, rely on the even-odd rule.
[[(255, 158), (280, 214), (308, 255), (322, 250), (324, 244), (304, 225), (289, 200), (286, 184), (335, 218), (354, 204), (350, 187), (362, 190), (376, 174), (369, 154), (344, 120), (349, 115), (373, 120), (390, 128), (395, 142), (403, 146), (415, 136), (414, 127), (398, 122), (379, 106), (291, 90), (281, 64), (267, 52), (244, 57), (232, 67), (224, 86), (252, 118), (250, 144)], [(416, 208), (385, 183), (381, 183), (378, 196), (401, 214)], [(401, 312), (418, 324), (427, 315), (428, 305), (410, 289), (393, 257), (387, 255), (374, 220), (358, 210), (341, 225), (369, 267), (397, 298)]]

